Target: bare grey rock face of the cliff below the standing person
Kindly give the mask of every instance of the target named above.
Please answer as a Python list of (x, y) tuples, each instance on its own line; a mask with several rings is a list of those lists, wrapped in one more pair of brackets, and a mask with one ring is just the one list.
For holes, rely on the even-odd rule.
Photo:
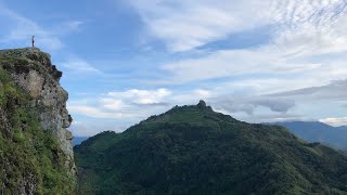
[[(30, 106), (37, 110), (42, 129), (53, 131), (67, 157), (66, 168), (72, 174), (76, 174), (73, 134), (66, 129), (72, 123), (72, 117), (66, 109), (68, 93), (59, 83), (62, 73), (52, 65), (50, 55), (37, 48), (26, 48), (17, 53), (15, 51), (17, 50), (3, 50), (0, 55), (12, 52), (12, 56), (29, 62), (30, 65), (15, 69), (12, 78), (34, 98)], [(1, 115), (0, 110), (0, 117)]]

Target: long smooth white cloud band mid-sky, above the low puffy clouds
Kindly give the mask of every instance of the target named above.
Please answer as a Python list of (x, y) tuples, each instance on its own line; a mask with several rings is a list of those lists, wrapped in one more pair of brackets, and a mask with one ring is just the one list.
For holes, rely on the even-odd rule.
[(321, 67), (313, 63), (294, 63), (272, 47), (253, 50), (217, 51), (200, 58), (183, 60), (163, 66), (172, 75), (168, 83), (184, 83), (250, 74), (295, 74)]

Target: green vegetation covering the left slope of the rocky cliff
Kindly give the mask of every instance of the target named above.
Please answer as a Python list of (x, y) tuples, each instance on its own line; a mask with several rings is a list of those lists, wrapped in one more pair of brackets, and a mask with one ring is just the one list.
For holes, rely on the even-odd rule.
[(13, 70), (27, 70), (26, 63), (0, 57), (0, 193), (72, 194), (74, 177), (56, 138), (40, 128), (31, 98), (11, 79)]

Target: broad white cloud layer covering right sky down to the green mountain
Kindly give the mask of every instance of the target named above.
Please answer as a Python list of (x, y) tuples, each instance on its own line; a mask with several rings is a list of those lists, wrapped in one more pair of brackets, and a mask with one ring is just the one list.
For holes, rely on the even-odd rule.
[[(310, 101), (317, 100), (344, 101), (346, 96), (347, 2), (344, 0), (129, 3), (141, 16), (147, 32), (162, 40), (169, 53), (187, 55), (159, 65), (163, 79), (151, 83), (166, 89), (130, 89), (101, 98), (97, 104), (107, 117), (134, 117), (143, 109), (142, 116), (147, 116), (176, 104), (205, 99), (215, 109), (248, 121), (319, 119), (309, 114), (310, 109), (305, 113), (305, 107), (297, 106), (310, 107)], [(208, 48), (211, 42), (228, 41), (237, 34), (254, 31), (252, 35), (257, 36), (260, 28), (269, 34), (264, 44)], [(187, 91), (171, 90), (174, 86), (192, 83), (200, 84)], [(345, 121), (325, 118), (330, 123)]]

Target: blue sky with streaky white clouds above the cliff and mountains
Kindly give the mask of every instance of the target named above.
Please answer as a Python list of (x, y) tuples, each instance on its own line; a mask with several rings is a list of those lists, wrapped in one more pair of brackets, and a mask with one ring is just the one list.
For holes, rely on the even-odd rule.
[(248, 122), (347, 125), (347, 0), (0, 0), (0, 49), (63, 72), (75, 136), (204, 100)]

